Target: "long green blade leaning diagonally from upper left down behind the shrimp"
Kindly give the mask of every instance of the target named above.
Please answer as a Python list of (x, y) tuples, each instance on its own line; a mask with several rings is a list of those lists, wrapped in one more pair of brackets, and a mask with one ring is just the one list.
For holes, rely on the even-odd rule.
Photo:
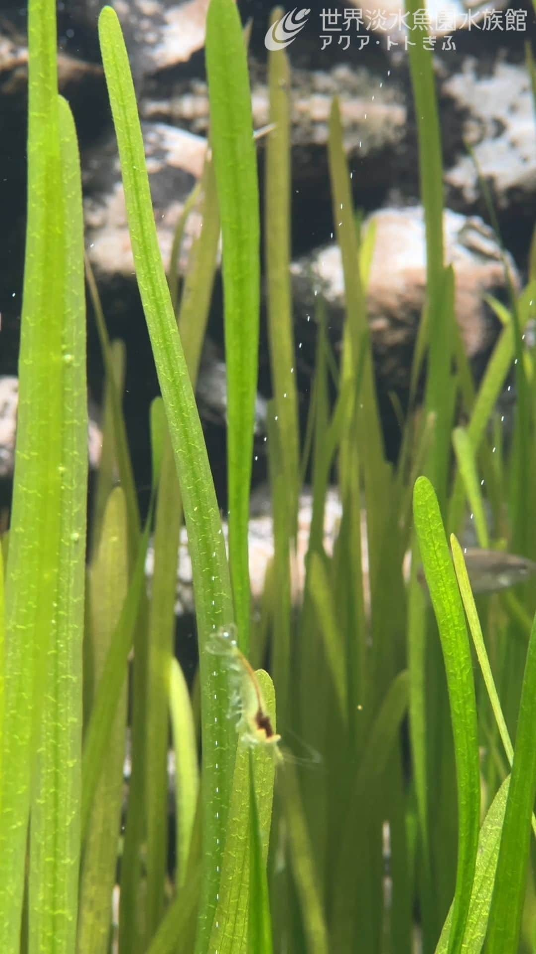
[(229, 808), (236, 738), (226, 718), (229, 698), (224, 667), (205, 649), (217, 627), (233, 621), (229, 570), (216, 494), (188, 369), (160, 259), (145, 167), (134, 84), (116, 14), (99, 18), (103, 62), (112, 103), (136, 275), (175, 453), (192, 556), (203, 729), (203, 891), (197, 950), (206, 951), (218, 891)]

